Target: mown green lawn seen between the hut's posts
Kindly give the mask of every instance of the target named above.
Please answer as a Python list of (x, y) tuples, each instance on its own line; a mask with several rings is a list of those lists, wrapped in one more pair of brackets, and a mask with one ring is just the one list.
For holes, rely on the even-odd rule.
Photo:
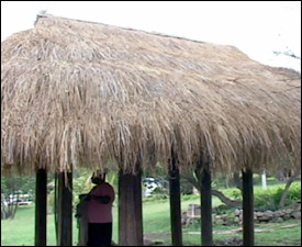
[[(182, 210), (187, 210), (190, 203), (199, 203), (199, 197), (183, 197)], [(213, 205), (220, 202), (213, 198)], [(170, 245), (169, 224), (169, 201), (145, 202), (143, 206), (144, 233), (161, 234), (157, 239)], [(113, 209), (113, 239), (118, 243), (118, 210)], [(291, 221), (283, 224), (261, 225), (256, 228), (278, 228), (271, 233), (256, 233), (256, 245), (258, 246), (300, 246), (301, 226), (294, 228), (279, 228), (282, 225), (299, 224), (301, 221)], [(215, 226), (214, 231), (235, 229), (239, 226)], [(77, 224), (74, 221), (74, 245), (77, 245)], [(199, 225), (192, 225), (183, 229), (184, 245), (200, 245), (200, 235), (189, 235), (189, 232), (200, 232)], [(228, 238), (242, 239), (242, 234), (221, 235), (214, 234), (214, 240), (225, 240)], [(153, 238), (156, 239), (156, 238)], [(20, 206), (14, 220), (1, 221), (1, 246), (33, 246), (34, 245), (34, 206)], [(47, 245), (56, 245), (54, 215), (47, 217)]]

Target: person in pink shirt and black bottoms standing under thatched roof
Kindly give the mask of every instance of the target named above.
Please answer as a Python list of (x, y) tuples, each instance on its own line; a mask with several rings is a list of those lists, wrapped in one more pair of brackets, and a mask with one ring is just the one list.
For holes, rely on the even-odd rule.
[(92, 176), (96, 184), (87, 194), (89, 201), (87, 206), (88, 220), (88, 246), (111, 246), (112, 240), (112, 203), (115, 193), (108, 182), (105, 173)]

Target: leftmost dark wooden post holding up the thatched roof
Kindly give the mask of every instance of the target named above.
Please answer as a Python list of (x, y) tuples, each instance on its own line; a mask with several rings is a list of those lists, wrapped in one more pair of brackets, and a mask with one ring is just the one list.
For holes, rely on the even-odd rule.
[(45, 169), (38, 169), (35, 186), (35, 246), (46, 246), (46, 210), (47, 173)]

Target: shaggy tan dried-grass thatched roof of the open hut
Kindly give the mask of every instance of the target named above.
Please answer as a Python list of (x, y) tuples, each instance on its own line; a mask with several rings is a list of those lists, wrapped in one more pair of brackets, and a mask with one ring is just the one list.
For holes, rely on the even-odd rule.
[(232, 46), (43, 15), (1, 44), (1, 166), (299, 168), (300, 87)]

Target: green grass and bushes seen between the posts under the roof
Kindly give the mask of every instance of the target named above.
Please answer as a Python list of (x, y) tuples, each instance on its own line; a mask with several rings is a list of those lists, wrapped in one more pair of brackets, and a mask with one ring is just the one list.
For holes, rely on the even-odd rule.
[[(75, 193), (82, 193), (83, 190), (89, 190), (89, 179), (85, 179), (85, 175), (78, 176), (74, 182)], [(116, 177), (109, 177), (111, 182), (116, 186)], [(78, 183), (78, 184), (77, 184)], [(276, 184), (277, 183), (277, 184)], [(258, 209), (273, 209), (278, 205), (280, 193), (284, 188), (284, 183), (280, 183), (276, 179), (269, 181), (269, 189), (264, 190), (261, 186), (255, 184), (255, 203)], [(232, 199), (241, 199), (238, 189), (228, 188), (221, 190), (224, 194)], [(51, 192), (52, 193), (52, 192)], [(163, 191), (165, 194), (166, 191)], [(160, 240), (165, 245), (170, 245), (170, 220), (169, 220), (169, 199), (163, 197), (158, 191), (155, 197), (144, 200), (143, 214), (144, 214), (144, 234), (145, 237), (153, 240)], [(49, 197), (51, 198), (51, 197)], [(75, 197), (76, 198), (76, 197)], [(118, 200), (118, 199), (116, 199)], [(289, 192), (287, 206), (291, 203), (301, 201), (301, 182), (294, 182)], [(183, 194), (181, 207), (188, 210), (189, 204), (199, 204), (200, 197), (198, 194)], [(227, 210), (226, 206), (222, 206), (223, 203), (213, 197), (213, 206), (215, 209)], [(219, 207), (220, 206), (220, 207)], [(52, 207), (52, 205), (48, 205)], [(228, 209), (230, 210), (230, 209)], [(232, 209), (233, 210), (233, 209)], [(118, 207), (116, 201), (113, 207), (113, 239), (118, 243)], [(271, 233), (256, 233), (256, 244), (261, 246), (300, 246), (301, 244), (301, 222), (289, 221), (282, 224), (261, 224), (256, 226), (257, 229), (270, 228), (275, 229)], [(300, 224), (299, 227), (293, 228), (280, 228), (280, 226)], [(77, 245), (77, 221), (74, 217), (74, 245)], [(241, 226), (214, 226), (214, 240), (216, 243), (226, 243), (227, 239), (242, 239), (242, 233), (234, 233), (232, 235), (217, 234), (221, 231), (238, 229)], [(190, 233), (200, 232), (200, 224), (197, 221), (188, 228), (183, 228), (183, 243), (184, 245), (200, 245), (200, 235), (191, 235)], [(47, 245), (56, 245), (55, 240), (55, 225), (54, 214), (49, 213), (47, 216)], [(1, 221), (1, 245), (5, 246), (31, 246), (34, 245), (34, 205), (19, 206), (14, 220)]]

